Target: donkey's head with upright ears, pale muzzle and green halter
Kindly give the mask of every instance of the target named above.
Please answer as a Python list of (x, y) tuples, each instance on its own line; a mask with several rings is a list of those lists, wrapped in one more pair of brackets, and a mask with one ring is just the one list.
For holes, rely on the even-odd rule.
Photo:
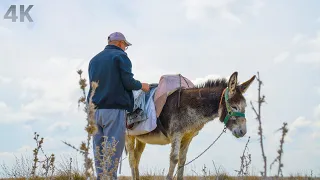
[(247, 133), (245, 108), (246, 99), (243, 94), (249, 88), (256, 76), (238, 85), (238, 72), (234, 72), (229, 79), (228, 87), (222, 93), (219, 117), (232, 134), (239, 138)]

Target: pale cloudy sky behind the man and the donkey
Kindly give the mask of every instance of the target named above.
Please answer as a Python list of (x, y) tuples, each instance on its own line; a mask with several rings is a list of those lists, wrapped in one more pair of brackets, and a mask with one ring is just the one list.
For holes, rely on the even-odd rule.
[[(33, 22), (3, 19), (10, 5), (34, 5)], [(157, 83), (181, 73), (195, 84), (239, 73), (244, 82), (259, 71), (263, 81), (264, 147), (268, 166), (277, 156), (283, 122), (288, 123), (283, 174), (320, 176), (320, 2), (316, 0), (4, 0), (0, 2), (0, 163), (32, 156), (34, 132), (43, 148), (63, 157), (81, 156), (62, 141), (78, 146), (86, 137), (78, 69), (107, 44), (115, 31), (133, 44), (128, 57), (134, 77)], [(17, 10), (17, 15), (19, 11)], [(263, 169), (256, 105), (258, 83), (245, 94), (247, 134), (225, 133), (186, 174), (214, 172), (213, 162), (230, 175), (239, 170), (248, 137), (250, 172)], [(206, 124), (189, 148), (187, 162), (219, 135), (223, 124)], [(167, 173), (170, 146), (147, 145), (140, 172)], [(125, 154), (124, 154), (125, 157)], [(277, 167), (268, 168), (275, 175)], [(1, 170), (0, 170), (1, 171)], [(122, 175), (130, 175), (124, 160)]]

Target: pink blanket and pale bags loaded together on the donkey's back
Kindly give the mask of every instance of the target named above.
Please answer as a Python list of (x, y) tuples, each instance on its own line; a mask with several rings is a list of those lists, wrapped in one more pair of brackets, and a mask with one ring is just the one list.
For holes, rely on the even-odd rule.
[[(159, 116), (166, 103), (167, 97), (176, 90), (192, 88), (194, 84), (181, 74), (163, 75), (159, 83), (150, 84), (150, 91), (133, 91), (134, 108), (133, 112), (127, 113), (126, 127), (128, 134), (140, 135), (151, 132), (159, 127), (163, 134), (167, 136)], [(180, 93), (178, 106), (180, 103)]]

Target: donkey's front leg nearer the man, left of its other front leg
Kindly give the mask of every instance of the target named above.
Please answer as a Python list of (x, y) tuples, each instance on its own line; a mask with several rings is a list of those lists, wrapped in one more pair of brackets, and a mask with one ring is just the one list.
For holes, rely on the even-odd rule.
[(176, 133), (172, 137), (171, 142), (171, 153), (170, 153), (170, 167), (167, 175), (167, 180), (172, 180), (174, 169), (178, 163), (180, 145), (181, 145), (181, 134)]

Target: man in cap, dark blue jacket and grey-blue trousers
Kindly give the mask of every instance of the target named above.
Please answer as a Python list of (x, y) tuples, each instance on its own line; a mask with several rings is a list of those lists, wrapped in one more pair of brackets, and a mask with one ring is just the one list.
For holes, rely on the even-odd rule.
[[(103, 51), (94, 56), (89, 63), (89, 80), (98, 82), (98, 88), (92, 98), (97, 110), (95, 120), (98, 132), (93, 137), (93, 151), (97, 155), (96, 146), (102, 149), (103, 136), (112, 143), (115, 138), (116, 152), (112, 157), (111, 167), (100, 167), (100, 162), (95, 158), (97, 176), (101, 168), (113, 169), (113, 178), (117, 179), (118, 164), (124, 149), (126, 111), (132, 112), (134, 99), (132, 90), (149, 91), (147, 83), (141, 83), (133, 78), (132, 64), (125, 50), (131, 46), (125, 36), (120, 32), (109, 35), (108, 45)], [(88, 97), (90, 97), (91, 87)], [(100, 152), (101, 153), (101, 152)], [(108, 164), (108, 163), (107, 163)]]

